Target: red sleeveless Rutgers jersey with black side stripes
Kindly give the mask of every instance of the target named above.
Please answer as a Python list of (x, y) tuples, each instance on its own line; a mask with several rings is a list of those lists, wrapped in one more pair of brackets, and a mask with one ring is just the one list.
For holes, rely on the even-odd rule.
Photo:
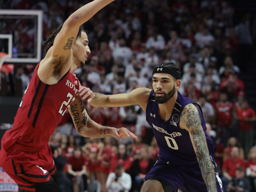
[(5, 151), (12, 145), (22, 151), (37, 151), (48, 145), (54, 129), (78, 94), (79, 81), (71, 70), (58, 83), (48, 85), (37, 76), (38, 66), (23, 95), (12, 129), (6, 131), (1, 140)]

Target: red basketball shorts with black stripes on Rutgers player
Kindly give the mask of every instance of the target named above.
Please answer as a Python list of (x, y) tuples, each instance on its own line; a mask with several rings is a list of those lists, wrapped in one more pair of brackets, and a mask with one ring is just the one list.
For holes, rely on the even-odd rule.
[(35, 186), (52, 182), (56, 167), (51, 148), (46, 145), (36, 152), (20, 151), (14, 147), (1, 148), (0, 165), (21, 190), (36, 191)]

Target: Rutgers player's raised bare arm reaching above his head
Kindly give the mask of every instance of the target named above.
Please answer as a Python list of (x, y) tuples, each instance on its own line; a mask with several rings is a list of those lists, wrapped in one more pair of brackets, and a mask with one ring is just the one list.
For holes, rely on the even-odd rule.
[(69, 70), (71, 62), (66, 61), (71, 60), (72, 46), (76, 40), (79, 27), (112, 1), (114, 0), (94, 0), (68, 17), (42, 62), (43, 67), (40, 66), (38, 69), (40, 78), (48, 79), (56, 71), (61, 76)]

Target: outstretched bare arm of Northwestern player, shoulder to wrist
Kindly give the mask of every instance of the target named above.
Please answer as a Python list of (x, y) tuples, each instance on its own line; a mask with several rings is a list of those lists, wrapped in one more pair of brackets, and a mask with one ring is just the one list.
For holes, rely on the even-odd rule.
[(92, 93), (90, 105), (94, 107), (122, 107), (128, 105), (140, 105), (145, 111), (148, 103), (148, 97), (151, 89), (140, 87), (129, 93), (120, 93), (116, 95), (104, 95), (101, 93)]

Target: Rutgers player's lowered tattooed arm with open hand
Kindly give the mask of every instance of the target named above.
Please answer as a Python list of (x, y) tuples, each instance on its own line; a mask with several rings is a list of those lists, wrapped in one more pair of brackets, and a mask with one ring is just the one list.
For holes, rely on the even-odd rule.
[(125, 137), (132, 137), (133, 139), (138, 139), (132, 132), (128, 131), (126, 128), (114, 128), (107, 127), (97, 124), (92, 121), (88, 116), (84, 104), (80, 97), (70, 105), (68, 111), (73, 119), (76, 131), (84, 137), (108, 137), (113, 136), (118, 140), (122, 140)]

